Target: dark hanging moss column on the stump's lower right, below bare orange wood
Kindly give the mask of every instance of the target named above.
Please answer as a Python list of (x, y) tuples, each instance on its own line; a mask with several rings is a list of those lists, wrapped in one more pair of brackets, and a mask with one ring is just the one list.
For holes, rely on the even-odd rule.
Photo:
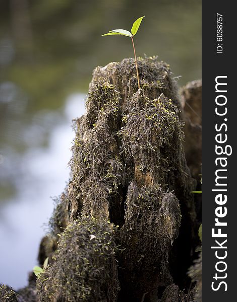
[[(178, 235), (181, 213), (179, 200), (158, 185), (137, 187), (131, 183), (126, 199), (125, 224), (120, 240), (125, 249), (120, 257), (122, 286), (136, 292), (136, 299), (158, 296), (160, 287), (172, 283), (169, 251)], [(127, 283), (128, 282), (128, 283)], [(130, 294), (129, 294), (130, 296)]]

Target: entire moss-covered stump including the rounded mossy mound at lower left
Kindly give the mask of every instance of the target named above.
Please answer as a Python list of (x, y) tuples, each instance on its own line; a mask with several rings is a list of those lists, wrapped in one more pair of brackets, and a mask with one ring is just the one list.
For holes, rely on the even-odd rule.
[(134, 59), (94, 70), (71, 179), (40, 246), (40, 302), (190, 301), (198, 230), (186, 113), (168, 64), (140, 58), (138, 69), (139, 90)]

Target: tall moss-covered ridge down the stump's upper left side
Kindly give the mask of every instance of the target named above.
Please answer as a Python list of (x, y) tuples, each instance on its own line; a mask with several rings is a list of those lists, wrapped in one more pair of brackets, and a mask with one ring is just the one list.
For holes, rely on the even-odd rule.
[[(78, 121), (69, 185), (71, 217), (91, 215), (108, 219), (108, 199), (122, 182), (123, 166), (115, 133), (120, 94), (113, 85), (97, 80), (87, 100), (87, 114)], [(97, 104), (99, 103), (99, 104)]]

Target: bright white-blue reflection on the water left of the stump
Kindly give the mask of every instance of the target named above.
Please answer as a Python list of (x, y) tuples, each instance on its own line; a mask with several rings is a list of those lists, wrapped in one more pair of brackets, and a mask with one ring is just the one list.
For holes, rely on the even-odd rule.
[[(51, 215), (50, 196), (60, 195), (69, 178), (67, 163), (74, 138), (71, 120), (84, 113), (84, 98), (75, 94), (68, 98), (63, 114), (41, 112), (26, 129), (29, 141), (39, 136), (37, 122), (54, 123), (50, 128), (47, 147), (31, 145), (22, 155), (4, 150), (2, 178), (14, 180), (15, 195), (5, 199), (0, 211), (0, 283), (15, 288), (27, 284), (27, 274), (37, 263), (37, 252), (44, 235), (43, 223)], [(36, 130), (36, 131), (35, 131)], [(3, 179), (2, 179), (3, 180)]]

